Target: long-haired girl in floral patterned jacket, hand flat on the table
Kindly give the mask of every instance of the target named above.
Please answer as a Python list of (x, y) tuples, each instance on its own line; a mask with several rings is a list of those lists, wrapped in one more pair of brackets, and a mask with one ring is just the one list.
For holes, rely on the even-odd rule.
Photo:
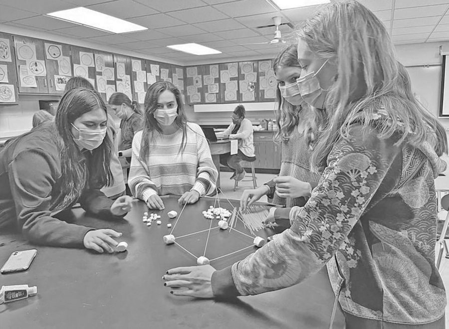
[[(176, 268), (175, 295), (255, 295), (328, 264), (346, 328), (444, 328), (435, 266), (434, 178), (445, 131), (414, 98), (382, 22), (357, 1), (330, 3), (299, 31), (296, 86), (327, 122), (320, 181), (289, 229), (231, 267)], [(177, 281), (174, 281), (177, 280)]]

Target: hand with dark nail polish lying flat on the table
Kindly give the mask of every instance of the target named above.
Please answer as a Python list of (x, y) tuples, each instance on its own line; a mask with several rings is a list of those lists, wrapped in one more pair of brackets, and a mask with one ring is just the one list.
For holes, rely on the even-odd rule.
[(215, 268), (211, 265), (177, 267), (167, 271), (162, 277), (164, 286), (172, 289), (176, 296), (190, 296), (197, 298), (213, 298), (212, 274)]

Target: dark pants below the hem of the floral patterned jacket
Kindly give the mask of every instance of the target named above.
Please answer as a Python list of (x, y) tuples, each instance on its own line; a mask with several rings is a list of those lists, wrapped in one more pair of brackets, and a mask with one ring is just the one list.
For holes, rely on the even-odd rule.
[(363, 319), (355, 317), (349, 313), (343, 312), (345, 315), (345, 329), (444, 329), (445, 328), (445, 317), (443, 316), (440, 320), (426, 325), (401, 325), (393, 324), (390, 322)]

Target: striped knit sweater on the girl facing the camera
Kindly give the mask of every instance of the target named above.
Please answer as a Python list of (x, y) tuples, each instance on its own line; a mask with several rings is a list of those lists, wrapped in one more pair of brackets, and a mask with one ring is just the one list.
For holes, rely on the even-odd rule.
[(133, 139), (128, 178), (135, 197), (146, 202), (153, 194), (182, 195), (196, 190), (204, 196), (215, 190), (218, 171), (200, 126), (187, 124), (187, 142), (182, 153), (181, 129), (170, 135), (155, 131), (145, 161), (139, 159), (142, 134), (142, 131), (136, 133)]

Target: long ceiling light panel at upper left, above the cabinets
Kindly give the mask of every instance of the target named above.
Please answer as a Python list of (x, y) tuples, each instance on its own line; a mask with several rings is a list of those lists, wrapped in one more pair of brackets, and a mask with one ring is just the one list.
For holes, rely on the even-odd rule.
[(135, 32), (148, 29), (147, 27), (84, 7), (50, 12), (47, 15), (112, 33)]

